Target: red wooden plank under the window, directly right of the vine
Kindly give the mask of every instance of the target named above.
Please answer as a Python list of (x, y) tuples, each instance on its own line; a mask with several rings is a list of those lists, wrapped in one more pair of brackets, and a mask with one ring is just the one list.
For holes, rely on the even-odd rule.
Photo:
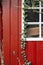
[[(37, 46), (37, 42), (27, 42), (27, 46), (26, 46), (26, 54), (27, 54), (27, 58), (29, 61), (32, 62), (33, 65), (37, 65), (36, 64), (36, 46)], [(28, 50), (28, 51), (27, 51)]]

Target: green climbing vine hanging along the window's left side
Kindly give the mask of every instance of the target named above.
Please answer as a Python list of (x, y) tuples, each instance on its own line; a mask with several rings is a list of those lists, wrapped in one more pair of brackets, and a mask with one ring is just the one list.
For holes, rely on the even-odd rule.
[[(26, 27), (27, 27), (27, 25), (25, 24), (25, 22), (26, 22), (26, 17), (27, 17), (27, 9), (28, 9), (28, 0), (24, 0), (24, 3), (23, 3), (23, 5), (24, 5), (24, 8), (23, 8), (23, 10), (24, 10), (24, 29), (23, 29), (23, 33), (21, 34), (22, 36), (23, 36), (23, 38), (25, 38), (26, 39)], [(22, 54), (22, 57), (23, 57), (23, 59), (24, 59), (24, 64), (23, 65), (31, 65), (31, 62), (27, 59), (27, 55), (26, 55), (26, 51), (25, 51), (25, 49), (26, 49), (26, 41), (23, 39), (23, 38), (21, 38), (21, 49), (22, 49), (22, 51), (21, 51), (21, 54)]]

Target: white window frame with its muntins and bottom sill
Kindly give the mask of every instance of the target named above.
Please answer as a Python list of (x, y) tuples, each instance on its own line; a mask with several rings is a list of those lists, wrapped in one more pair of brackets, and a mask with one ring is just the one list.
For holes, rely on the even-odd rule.
[[(24, 7), (23, 5), (24, 3), (24, 0), (22, 0), (22, 8)], [(39, 7), (29, 7), (29, 9), (39, 9), (39, 12), (41, 12), (41, 10), (43, 9), (43, 7), (41, 7), (41, 1), (39, 1)], [(24, 32), (24, 23), (23, 23), (23, 13), (24, 13), (24, 10), (22, 9), (22, 33)], [(39, 37), (38, 38), (35, 38), (35, 37), (32, 37), (32, 38), (24, 38), (24, 40), (26, 41), (43, 41), (43, 38), (41, 37), (41, 24), (43, 24), (43, 22), (41, 22), (41, 13), (39, 13), (39, 22), (26, 22), (26, 24), (30, 25), (30, 24), (39, 24)], [(23, 36), (22, 36), (23, 37)]]

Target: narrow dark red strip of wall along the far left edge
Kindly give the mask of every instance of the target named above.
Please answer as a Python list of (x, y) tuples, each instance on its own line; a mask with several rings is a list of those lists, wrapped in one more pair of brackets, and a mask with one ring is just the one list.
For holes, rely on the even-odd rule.
[(1, 65), (1, 50), (2, 50), (2, 6), (0, 4), (0, 65)]

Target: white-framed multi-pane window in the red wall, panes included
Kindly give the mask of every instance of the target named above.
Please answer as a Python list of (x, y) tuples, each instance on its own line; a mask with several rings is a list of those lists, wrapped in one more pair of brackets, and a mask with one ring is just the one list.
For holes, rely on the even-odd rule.
[[(43, 40), (43, 1), (27, 1), (22, 2), (22, 7), (28, 5), (22, 10), (22, 31), (26, 25), (26, 40), (41, 41)], [(25, 5), (23, 5), (24, 2)]]

